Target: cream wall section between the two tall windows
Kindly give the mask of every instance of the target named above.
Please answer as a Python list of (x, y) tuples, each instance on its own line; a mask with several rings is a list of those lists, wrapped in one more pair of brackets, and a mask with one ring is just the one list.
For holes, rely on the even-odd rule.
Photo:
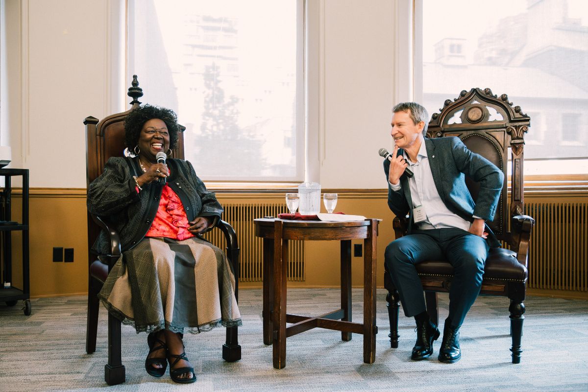
[(383, 188), (394, 104), (394, 2), (326, 0), (324, 20), (325, 188)]

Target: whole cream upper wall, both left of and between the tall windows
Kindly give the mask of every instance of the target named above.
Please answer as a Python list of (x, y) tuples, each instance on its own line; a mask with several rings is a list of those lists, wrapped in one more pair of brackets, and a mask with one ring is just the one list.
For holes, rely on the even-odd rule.
[[(124, 38), (112, 30), (121, 1), (5, 1), (6, 15), (22, 21), (6, 26), (7, 56), (18, 64), (8, 69), (14, 92), (8, 98), (14, 108), (9, 167), (30, 169), (32, 187), (83, 188), (83, 119), (125, 108), (120, 97), (128, 86), (114, 92), (121, 72), (112, 54)], [(391, 145), (390, 109), (398, 95), (396, 6), (389, 0), (309, 2), (318, 21), (309, 31), (309, 57), (319, 60), (309, 70), (309, 92), (315, 94), (309, 108), (311, 179), (323, 188), (385, 187), (377, 150)]]

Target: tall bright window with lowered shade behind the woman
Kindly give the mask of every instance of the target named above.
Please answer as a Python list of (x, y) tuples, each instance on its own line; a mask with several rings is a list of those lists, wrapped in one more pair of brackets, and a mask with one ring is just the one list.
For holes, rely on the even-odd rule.
[(129, 77), (203, 179), (303, 177), (302, 0), (129, 1)]

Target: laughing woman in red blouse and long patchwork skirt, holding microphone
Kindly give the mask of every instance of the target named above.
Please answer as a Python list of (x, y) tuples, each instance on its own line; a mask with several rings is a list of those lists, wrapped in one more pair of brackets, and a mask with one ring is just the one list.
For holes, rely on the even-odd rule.
[[(147, 373), (176, 383), (196, 375), (183, 346), (185, 330), (240, 326), (235, 277), (225, 254), (198, 234), (215, 226), (223, 209), (191, 163), (167, 159), (178, 142), (176, 114), (143, 105), (125, 121), (125, 142), (134, 158), (110, 158), (88, 190), (88, 210), (119, 232), (122, 256), (99, 294), (109, 312), (137, 333), (149, 332)], [(94, 245), (109, 253), (101, 233)]]

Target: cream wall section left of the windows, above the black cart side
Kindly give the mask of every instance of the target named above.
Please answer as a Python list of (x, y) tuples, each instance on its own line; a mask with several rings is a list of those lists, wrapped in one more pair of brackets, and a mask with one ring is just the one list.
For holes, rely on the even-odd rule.
[(31, 187), (85, 187), (82, 122), (102, 118), (108, 102), (106, 2), (7, 0), (6, 14), (21, 21), (8, 32), (8, 56), (19, 68), (7, 82), (22, 96), (9, 96), (8, 167), (29, 169)]

